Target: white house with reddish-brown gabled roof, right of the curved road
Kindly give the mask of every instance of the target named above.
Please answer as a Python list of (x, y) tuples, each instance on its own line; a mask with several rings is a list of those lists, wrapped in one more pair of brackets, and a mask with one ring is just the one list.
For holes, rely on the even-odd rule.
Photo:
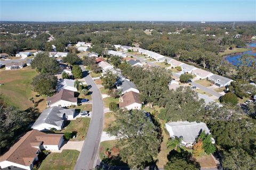
[(140, 94), (134, 91), (126, 92), (123, 96), (119, 99), (119, 107), (126, 108), (127, 110), (131, 109), (141, 109), (141, 102), (140, 102)]

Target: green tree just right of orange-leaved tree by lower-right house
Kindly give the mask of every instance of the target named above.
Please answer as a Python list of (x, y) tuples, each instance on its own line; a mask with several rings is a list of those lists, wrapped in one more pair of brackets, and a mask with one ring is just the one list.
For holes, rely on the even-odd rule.
[(211, 136), (209, 134), (206, 134), (205, 131), (202, 131), (197, 140), (199, 139), (202, 140), (203, 148), (207, 155), (213, 154), (215, 152), (216, 148), (213, 145)]

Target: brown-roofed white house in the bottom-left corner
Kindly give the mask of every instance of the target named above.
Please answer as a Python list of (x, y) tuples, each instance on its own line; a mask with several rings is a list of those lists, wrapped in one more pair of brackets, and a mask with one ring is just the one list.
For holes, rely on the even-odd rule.
[(31, 170), (42, 150), (59, 150), (63, 145), (63, 134), (43, 133), (31, 130), (21, 137), (0, 157), (0, 169)]

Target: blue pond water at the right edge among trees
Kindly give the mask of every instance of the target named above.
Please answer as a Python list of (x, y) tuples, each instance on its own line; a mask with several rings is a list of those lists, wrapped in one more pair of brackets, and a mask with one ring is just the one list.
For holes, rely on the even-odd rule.
[(256, 43), (247, 44), (247, 49), (249, 49), (249, 51), (235, 54), (235, 55), (227, 55), (225, 59), (229, 63), (231, 63), (233, 65), (237, 65), (239, 63), (239, 58), (241, 58), (244, 54), (249, 54), (249, 55), (254, 56), (255, 61), (256, 61), (256, 52), (255, 52), (255, 50), (253, 52), (252, 47), (256, 48)]

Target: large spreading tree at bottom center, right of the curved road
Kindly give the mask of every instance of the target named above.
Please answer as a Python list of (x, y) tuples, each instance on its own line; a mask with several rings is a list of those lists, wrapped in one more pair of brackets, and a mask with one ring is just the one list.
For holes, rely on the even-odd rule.
[(132, 169), (141, 169), (153, 162), (161, 143), (158, 128), (143, 111), (119, 109), (114, 115), (116, 120), (107, 133), (118, 138), (122, 161)]

